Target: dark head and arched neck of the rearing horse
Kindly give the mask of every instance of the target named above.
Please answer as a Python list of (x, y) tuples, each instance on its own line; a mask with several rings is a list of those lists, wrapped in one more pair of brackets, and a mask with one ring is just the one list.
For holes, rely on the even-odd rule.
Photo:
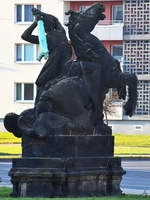
[(66, 24), (69, 37), (75, 49), (77, 60), (99, 63), (104, 68), (116, 66), (116, 60), (110, 55), (102, 42), (91, 31), (99, 20), (104, 20), (104, 5), (95, 3), (84, 12), (70, 10), (66, 13), (69, 22)]

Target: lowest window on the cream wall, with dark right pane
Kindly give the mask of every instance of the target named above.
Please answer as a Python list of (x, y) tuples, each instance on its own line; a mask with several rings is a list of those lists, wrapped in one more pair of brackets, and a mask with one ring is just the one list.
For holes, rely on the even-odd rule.
[(16, 83), (15, 100), (16, 101), (33, 101), (35, 99), (36, 88), (33, 83)]

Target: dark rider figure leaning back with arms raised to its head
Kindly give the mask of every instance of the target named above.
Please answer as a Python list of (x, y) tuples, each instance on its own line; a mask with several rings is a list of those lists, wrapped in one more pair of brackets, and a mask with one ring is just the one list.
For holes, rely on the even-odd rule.
[(61, 57), (67, 50), (70, 51), (71, 54), (71, 48), (68, 44), (66, 32), (56, 17), (43, 13), (35, 8), (32, 10), (32, 12), (33, 15), (36, 16), (36, 20), (33, 22), (33, 24), (31, 24), (29, 28), (24, 31), (21, 38), (33, 44), (39, 44), (38, 36), (33, 35), (32, 32), (37, 27), (37, 20), (42, 19), (44, 22), (49, 50), (49, 57), (35, 82), (37, 85), (37, 96), (35, 101), (36, 104), (46, 84), (50, 80), (53, 80), (54, 78), (61, 75), (63, 71)]

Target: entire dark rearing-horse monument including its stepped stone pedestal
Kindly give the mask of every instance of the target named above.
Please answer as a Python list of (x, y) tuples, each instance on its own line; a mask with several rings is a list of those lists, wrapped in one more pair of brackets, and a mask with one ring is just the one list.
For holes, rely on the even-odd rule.
[[(119, 195), (125, 173), (114, 155), (114, 137), (103, 121), (103, 102), (109, 88), (128, 100), (132, 116), (137, 101), (137, 78), (121, 71), (120, 63), (91, 34), (105, 7), (96, 3), (84, 12), (68, 11), (72, 47), (58, 19), (33, 9), (35, 21), (22, 39), (39, 44), (33, 35), (43, 21), (49, 52), (37, 80), (34, 108), (8, 113), (6, 129), (22, 137), (22, 158), (13, 159), (9, 172), (12, 196), (74, 197)], [(41, 57), (45, 54), (40, 54)], [(47, 55), (47, 54), (46, 54)]]

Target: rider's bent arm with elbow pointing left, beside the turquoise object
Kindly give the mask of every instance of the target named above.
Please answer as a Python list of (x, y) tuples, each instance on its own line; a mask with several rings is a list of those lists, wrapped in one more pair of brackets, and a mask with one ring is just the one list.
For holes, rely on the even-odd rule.
[(33, 30), (36, 28), (37, 22), (33, 22), (29, 28), (27, 28), (24, 33), (21, 35), (21, 38), (27, 42), (31, 42), (33, 44), (39, 44), (39, 38), (36, 35), (32, 35)]

